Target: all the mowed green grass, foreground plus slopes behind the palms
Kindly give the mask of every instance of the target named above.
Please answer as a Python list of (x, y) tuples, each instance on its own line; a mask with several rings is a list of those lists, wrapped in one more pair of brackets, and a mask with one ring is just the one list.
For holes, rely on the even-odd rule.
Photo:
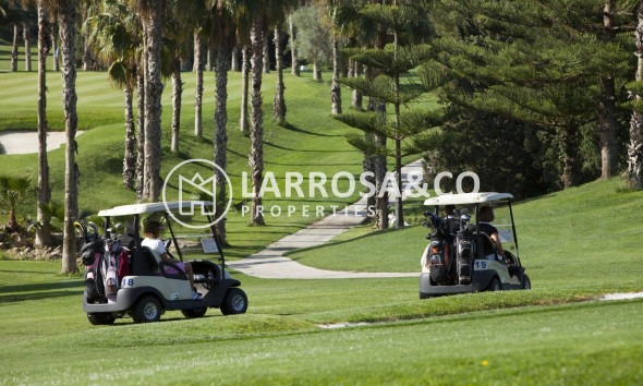
[[(192, 136), (194, 76), (183, 75), (178, 154), (169, 150), (169, 88), (163, 96), (163, 174), (182, 160), (213, 157), (214, 74), (206, 74), (201, 140)], [(0, 73), (0, 131), (35, 130), (35, 72)], [(48, 73), (48, 82), (50, 126), (61, 130), (59, 74)], [(343, 138), (351, 129), (329, 117), (329, 86), (286, 76), (290, 124), (280, 128), (268, 113), (274, 83), (274, 74), (265, 76), (265, 159), (278, 185), (283, 189), (287, 171), (359, 173), (362, 156)], [(235, 190), (250, 148), (236, 125), (240, 84), (230, 73), (228, 170)], [(77, 87), (80, 129), (88, 130), (77, 138), (81, 208), (133, 203), (135, 194), (120, 183), (122, 93), (105, 73), (80, 72)], [(63, 150), (50, 152), (49, 160), (53, 200), (61, 202)], [(36, 155), (0, 155), (2, 172), (34, 174), (36, 165)], [(97, 327), (82, 311), (83, 279), (59, 275), (60, 262), (0, 260), (0, 384), (642, 384), (643, 301), (593, 300), (643, 290), (643, 193), (617, 193), (618, 183), (594, 182), (515, 206), (531, 291), (420, 301), (416, 278), (265, 280), (232, 273), (247, 292), (247, 314), (209, 310), (185, 319), (168, 312), (151, 325), (123, 318)], [(242, 258), (315, 220), (302, 215), (303, 205), (331, 212), (329, 205), (355, 200), (356, 193), (269, 196), (267, 206), (296, 205), (298, 214), (269, 217), (260, 228), (233, 209), (226, 251)], [(29, 214), (34, 207), (19, 208), (19, 216)], [(414, 272), (425, 233), (359, 228), (292, 257), (331, 269)], [(318, 326), (341, 322), (374, 324)]]

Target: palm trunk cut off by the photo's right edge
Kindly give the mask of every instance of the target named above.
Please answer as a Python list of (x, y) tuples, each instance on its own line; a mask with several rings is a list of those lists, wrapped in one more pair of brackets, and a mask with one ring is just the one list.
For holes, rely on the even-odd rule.
[[(636, 10), (638, 24), (634, 33), (636, 43), (636, 82), (643, 81), (643, 0), (639, 1)], [(635, 100), (640, 102), (641, 96), (635, 95)], [(643, 113), (634, 110), (630, 118), (630, 145), (628, 146), (628, 170), (626, 178), (630, 188), (643, 188)]]

